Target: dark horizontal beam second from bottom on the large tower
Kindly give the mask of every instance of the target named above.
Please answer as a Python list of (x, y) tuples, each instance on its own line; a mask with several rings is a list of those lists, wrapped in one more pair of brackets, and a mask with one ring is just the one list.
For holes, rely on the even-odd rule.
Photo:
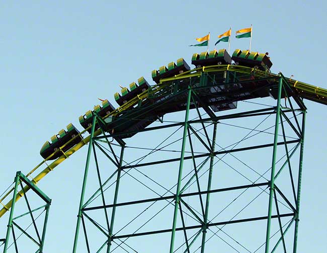
[[(226, 192), (226, 191), (233, 191), (233, 190), (239, 190), (239, 189), (261, 187), (261, 186), (267, 186), (268, 184), (269, 183), (266, 182), (266, 183), (260, 183), (260, 184), (251, 184), (251, 185), (221, 188), (221, 189), (215, 189), (215, 190), (210, 190), (210, 191), (184, 193), (184, 194), (181, 194), (180, 197), (183, 198), (183, 197), (190, 197), (190, 196), (202, 195), (202, 194), (208, 194), (208, 193)], [(117, 206), (135, 205), (135, 204), (155, 202), (155, 201), (168, 200), (168, 199), (174, 199), (174, 198), (175, 198), (175, 195), (166, 196), (166, 197), (151, 198), (151, 199), (144, 199), (144, 200), (136, 200), (136, 201), (123, 202), (123, 203), (117, 203), (117, 204), (112, 204), (112, 205), (103, 205), (103, 206), (83, 208), (83, 211), (91, 211), (91, 210), (98, 210), (98, 209), (103, 209), (103, 208), (111, 208), (111, 207), (114, 207), (114, 206), (117, 207)]]

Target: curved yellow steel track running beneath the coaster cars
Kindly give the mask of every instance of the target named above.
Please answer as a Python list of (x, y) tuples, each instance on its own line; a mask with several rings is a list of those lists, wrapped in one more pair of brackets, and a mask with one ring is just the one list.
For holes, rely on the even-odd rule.
[[(258, 69), (255, 69), (255, 68), (245, 67), (245, 66), (230, 65), (230, 64), (229, 65), (213, 65), (213, 66), (205, 66), (205, 67), (201, 67), (201, 68), (195, 68), (195, 69), (192, 69), (192, 70), (189, 70), (189, 71), (185, 71), (185, 72), (183, 72), (181, 74), (175, 75), (174, 77), (160, 79), (160, 82), (157, 85), (154, 85), (153, 87), (151, 87), (151, 91), (152, 92), (160, 91), (162, 88), (169, 85), (168, 81), (184, 79), (184, 78), (190, 78), (190, 77), (193, 77), (193, 76), (200, 76), (200, 72), (214, 72), (214, 71), (226, 71), (226, 70), (236, 71), (236, 72), (240, 72), (240, 73), (255, 74), (258, 77), (275, 77), (275, 76), (277, 77), (278, 76), (277, 74), (273, 74), (271, 72), (262, 71), (262, 70), (258, 70)], [(290, 86), (293, 87), (293, 89), (296, 89), (296, 90), (301, 92), (299, 94), (301, 97), (305, 98), (304, 95), (301, 95), (302, 93), (308, 94), (308, 95), (311, 95), (311, 96), (315, 95), (315, 96), (317, 96), (317, 100), (319, 100), (319, 98), (321, 98), (321, 99), (323, 99), (323, 102), (321, 101), (321, 103), (327, 105), (327, 90), (319, 88), (319, 87), (315, 87), (315, 86), (312, 86), (312, 85), (309, 85), (309, 84), (301, 82), (301, 81), (293, 80), (293, 79), (290, 79), (290, 78), (286, 78), (286, 79), (290, 83)], [(127, 110), (127, 109), (133, 107), (134, 105), (136, 105), (139, 100), (142, 100), (142, 101), (145, 100), (147, 98), (147, 96), (148, 96), (148, 91), (145, 91), (145, 92), (141, 93), (140, 95), (138, 95), (135, 98), (131, 99), (130, 101), (128, 101), (127, 103), (125, 103), (121, 107), (117, 108), (115, 111), (113, 111), (110, 114), (103, 117), (103, 119), (105, 119), (105, 118), (107, 118), (109, 116), (118, 115), (120, 112), (122, 112), (124, 110)], [(91, 126), (89, 128), (91, 128)], [(80, 132), (78, 135), (81, 136), (81, 134), (86, 133), (86, 131), (89, 130), (89, 128), (85, 129), (83, 132)], [(98, 136), (101, 133), (102, 133), (102, 130), (98, 129), (98, 130), (95, 131), (94, 136)], [(75, 138), (77, 138), (77, 136)], [(63, 152), (62, 148), (65, 147), (74, 138), (71, 139), (69, 142), (62, 145), (54, 153), (49, 155), (49, 157), (47, 157), (42, 162), (40, 162), (36, 167), (34, 167), (33, 170), (31, 170), (26, 175), (26, 177), (32, 177), (32, 174), (39, 167), (41, 167), (43, 164), (46, 164), (46, 167), (39, 174), (37, 174), (34, 178), (32, 178), (32, 182), (34, 184), (37, 184), (41, 179), (43, 179), (46, 175), (48, 175), (51, 171), (53, 171), (54, 168), (56, 166), (58, 166), (61, 162), (63, 162), (66, 158), (68, 158), (70, 155), (75, 153), (81, 147), (88, 144), (89, 141), (90, 141), (90, 138), (91, 138), (91, 136), (89, 135), (86, 138), (82, 139), (80, 142), (78, 142), (75, 146), (73, 146), (72, 148), (67, 150), (66, 152)], [(48, 164), (47, 161), (56, 152), (62, 152), (63, 154), (60, 157), (58, 157), (55, 161)], [(14, 190), (14, 188), (11, 188), (10, 190), (8, 190), (8, 192), (6, 192), (5, 195), (0, 199), (0, 204), (3, 205), (3, 208), (0, 210), (0, 218), (7, 211), (9, 211), (10, 208), (12, 207), (12, 201), (13, 201), (12, 199), (6, 205), (3, 204), (3, 201), (10, 195), (10, 193), (13, 192), (13, 190)], [(24, 191), (27, 192), (28, 190), (29, 190), (29, 187), (25, 186)], [(18, 192), (17, 195), (16, 195), (16, 198), (15, 198), (15, 201), (18, 201), (23, 196), (23, 194), (24, 194), (23, 190)]]

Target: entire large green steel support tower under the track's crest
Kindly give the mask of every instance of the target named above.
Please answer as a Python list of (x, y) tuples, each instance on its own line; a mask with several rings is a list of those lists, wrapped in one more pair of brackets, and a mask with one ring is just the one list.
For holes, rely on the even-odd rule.
[[(296, 252), (306, 107), (281, 73), (252, 76), (171, 78), (149, 91), (162, 103), (115, 127), (95, 115), (73, 252)], [(223, 111), (268, 93), (270, 105)], [(155, 125), (115, 131), (152, 111)], [(174, 111), (179, 120), (161, 118)]]

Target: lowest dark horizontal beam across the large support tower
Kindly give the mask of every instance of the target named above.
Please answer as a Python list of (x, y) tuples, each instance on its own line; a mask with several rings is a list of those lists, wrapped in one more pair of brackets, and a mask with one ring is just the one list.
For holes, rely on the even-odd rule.
[[(282, 218), (282, 217), (289, 217), (294, 216), (294, 213), (286, 213), (281, 215), (272, 215), (271, 218)], [(257, 220), (266, 220), (268, 216), (261, 216), (261, 217), (254, 217), (254, 218), (248, 218), (248, 219), (239, 219), (239, 220), (229, 220), (229, 221), (222, 221), (222, 222), (215, 222), (215, 223), (209, 223), (208, 227), (212, 226), (220, 226), (220, 225), (226, 225), (226, 224), (235, 224), (235, 223), (241, 223), (241, 222), (249, 222), (249, 221), (257, 221)], [(202, 228), (202, 225), (195, 225), (195, 226), (188, 226), (188, 227), (179, 227), (176, 228), (176, 231), (181, 230), (189, 230), (189, 229), (200, 229)], [(155, 230), (155, 231), (148, 231), (148, 232), (142, 232), (142, 233), (133, 233), (133, 234), (123, 234), (123, 235), (116, 235), (113, 236), (113, 239), (121, 239), (121, 238), (128, 238), (128, 237), (135, 237), (135, 236), (141, 236), (141, 235), (150, 235), (150, 234), (159, 234), (159, 233), (168, 233), (172, 232), (172, 229), (162, 229), (162, 230)]]

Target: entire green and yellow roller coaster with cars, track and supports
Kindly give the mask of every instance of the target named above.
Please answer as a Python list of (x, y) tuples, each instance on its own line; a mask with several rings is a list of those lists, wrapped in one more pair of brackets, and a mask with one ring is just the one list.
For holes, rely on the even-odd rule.
[[(140, 233), (139, 235), (147, 235), (147, 234), (156, 234), (156, 233), (171, 233), (170, 247), (165, 249), (165, 252), (175, 252), (176, 248), (174, 247), (175, 242), (175, 234), (177, 231), (184, 231), (185, 235), (185, 252), (190, 252), (190, 248), (193, 242), (200, 236), (202, 233), (202, 242), (200, 243), (199, 248), (201, 252), (204, 252), (204, 245), (206, 242), (206, 231), (209, 227), (214, 224), (210, 223), (208, 220), (208, 208), (209, 208), (209, 196), (214, 191), (211, 189), (211, 179), (208, 179), (208, 185), (206, 191), (199, 191), (196, 193), (201, 196), (201, 205), (203, 209), (203, 217), (198, 217), (201, 221), (199, 226), (187, 227), (184, 224), (183, 213), (182, 213), (182, 197), (184, 197), (185, 193), (183, 193), (182, 188), (182, 169), (183, 169), (183, 161), (187, 159), (195, 159), (195, 157), (200, 157), (199, 155), (195, 155), (192, 153), (191, 156), (185, 156), (185, 142), (188, 138), (188, 132), (193, 132), (199, 139), (199, 134), (195, 131), (191, 124), (201, 123), (203, 129), (205, 131), (206, 127), (204, 123), (211, 123), (213, 126), (213, 138), (208, 139), (209, 143), (201, 143), (207, 147), (208, 149), (208, 160), (210, 160), (210, 168), (209, 172), (212, 173), (212, 165), (213, 158), (220, 154), (221, 152), (230, 153), (225, 151), (215, 151), (215, 135), (216, 135), (216, 127), (217, 123), (224, 119), (231, 118), (244, 118), (244, 117), (254, 117), (259, 115), (268, 115), (274, 114), (276, 115), (275, 122), (275, 133), (274, 133), (274, 142), (272, 144), (258, 145), (255, 148), (264, 148), (264, 147), (273, 147), (273, 162), (271, 168), (271, 178), (265, 183), (248, 185), (247, 188), (252, 187), (269, 187), (269, 207), (268, 207), (268, 216), (265, 217), (256, 217), (251, 218), (250, 220), (267, 220), (267, 232), (266, 232), (266, 241), (265, 241), (265, 252), (271, 252), (271, 248), (269, 247), (269, 241), (271, 238), (270, 225), (272, 219), (276, 218), (280, 223), (280, 230), (282, 231), (280, 239), (277, 241), (276, 246), (272, 251), (276, 250), (277, 246), (282, 242), (283, 247), (286, 252), (286, 244), (284, 242), (284, 233), (289, 228), (289, 224), (287, 224), (286, 229), (283, 230), (284, 226), (281, 226), (281, 217), (292, 217), (292, 222), (295, 222), (295, 232), (294, 232), (294, 244), (293, 251), (296, 252), (296, 241), (297, 241), (297, 227), (298, 227), (298, 213), (299, 213), (299, 195), (300, 195), (300, 179), (301, 179), (301, 170), (299, 169), (299, 183), (297, 186), (297, 194), (295, 194), (295, 187), (293, 187), (293, 192), (295, 196), (295, 203), (292, 204), (287, 198), (283, 195), (283, 193), (279, 190), (276, 190), (277, 186), (275, 186), (275, 179), (279, 172), (276, 175), (275, 172), (275, 164), (276, 164), (276, 150), (279, 145), (285, 145), (287, 150), (287, 144), (289, 143), (297, 143), (297, 147), (300, 148), (300, 161), (302, 164), (302, 156), (303, 156), (303, 140), (304, 140), (304, 122), (305, 122), (305, 112), (306, 107), (304, 105), (303, 99), (311, 100), (319, 104), (327, 105), (327, 90), (309, 85), (308, 83), (304, 83), (298, 80), (294, 80), (289, 77), (285, 77), (282, 73), (274, 74), (271, 72), (272, 62), (270, 57), (268, 57), (265, 53), (258, 52), (250, 52), (249, 50), (240, 50), (236, 49), (233, 54), (230, 56), (225, 49), (221, 49), (219, 51), (213, 50), (210, 52), (202, 52), (195, 53), (192, 56), (192, 64), (195, 68), (191, 69), (191, 67), (187, 64), (187, 62), (180, 58), (176, 62), (171, 62), (167, 66), (161, 66), (159, 69), (154, 69), (151, 73), (152, 80), (154, 81), (154, 85), (150, 85), (144, 77), (140, 77), (136, 82), (130, 83), (128, 88), (122, 88), (121, 93), (114, 94), (114, 99), (116, 103), (119, 105), (118, 108), (115, 108), (108, 100), (104, 100), (101, 105), (97, 105), (93, 110), (87, 111), (84, 115), (81, 115), (78, 120), (83, 127), (83, 131), (78, 131), (78, 129), (73, 126), (71, 123), (67, 125), (66, 130), (62, 129), (57, 134), (53, 135), (50, 138), (50, 141), (46, 141), (44, 145), (41, 147), (40, 155), (43, 157), (43, 160), (35, 166), (28, 174), (25, 176), (22, 173), (18, 173), (15, 178), (15, 186), (9, 188), (3, 195), (1, 195), (0, 203), (2, 204), (2, 209), (0, 210), (0, 218), (3, 217), (7, 212), (10, 212), (9, 223), (7, 228), (6, 238), (2, 239), (4, 246), (4, 253), (7, 252), (9, 248), (9, 241), (11, 238), (11, 234), (13, 234), (13, 243), (15, 245), (16, 251), (18, 252), (18, 243), (16, 242), (16, 237), (14, 234), (14, 227), (18, 227), (22, 233), (24, 233), (29, 238), (27, 232), (24, 229), (19, 227), (17, 223), (14, 222), (14, 206), (15, 203), (22, 197), (26, 198), (26, 193), (29, 190), (33, 190), (37, 195), (42, 198), (43, 201), (46, 202), (42, 208), (46, 210), (46, 217), (43, 227), (42, 236), (38, 237), (38, 240), (32, 238), (37, 245), (37, 250), (35, 252), (43, 252), (44, 238), (45, 238), (45, 228), (48, 217), (48, 210), (50, 207), (51, 200), (36, 186), (36, 184), (42, 180), (46, 175), (54, 170), (56, 166), (58, 166), (65, 159), (70, 157), (72, 154), (77, 152), (81, 147), (89, 144), (88, 156), (87, 156), (87, 165), (85, 170), (85, 177), (82, 187), (82, 194), (80, 199), (80, 206), (78, 211), (77, 225), (76, 225), (76, 233), (74, 239), (74, 247), (73, 252), (77, 250), (77, 239), (79, 234), (79, 226), (80, 223), (83, 225), (83, 229), (85, 232), (87, 249), (80, 252), (102, 252), (101, 250), (105, 248), (106, 252), (111, 252), (112, 242), (115, 240), (121, 240), (122, 238), (126, 238), (128, 236), (136, 236), (135, 234), (127, 234), (127, 235), (117, 235), (113, 229), (114, 220), (115, 220), (115, 210), (116, 207), (129, 205), (131, 203), (117, 203), (118, 196), (118, 188), (119, 188), (119, 179), (121, 177), (121, 172), (128, 168), (136, 167), (137, 164), (123, 164), (122, 156), (123, 150), (125, 147), (124, 139), (131, 138), (137, 133), (146, 132), (150, 130), (156, 130), (161, 128), (168, 128), (172, 126), (181, 126), (184, 127), (184, 133), (182, 138), (182, 150), (181, 157), (174, 158), (165, 161), (158, 161), (158, 163), (170, 162), (172, 160), (179, 162), (179, 176), (177, 180), (176, 194), (172, 195), (170, 198), (175, 200), (174, 205), (174, 218), (173, 225), (171, 229), (162, 229), (157, 231), (148, 231), (144, 233)], [(244, 113), (236, 113), (236, 114), (226, 114), (216, 116), (216, 113), (226, 110), (232, 110), (237, 108), (237, 102), (239, 101), (247, 101), (258, 98), (268, 98), (271, 97), (274, 100), (277, 100), (277, 106), (274, 106), (269, 109), (261, 109), (255, 110), (251, 112)], [(289, 102), (288, 107), (281, 106), (281, 100), (285, 98)], [(294, 106), (293, 106), (294, 103)], [(297, 108), (295, 109), (295, 105)], [(198, 120), (190, 120), (189, 119), (189, 111), (192, 109), (204, 110), (208, 118), (202, 118), (199, 114)], [(169, 113), (181, 112), (185, 111), (185, 121), (181, 123), (169, 124), (169, 126), (165, 125), (162, 127), (154, 126), (150, 127), (150, 125), (154, 122), (162, 122), (162, 119), (165, 115)], [(302, 126), (297, 120), (297, 115), (295, 112), (300, 112), (303, 116)], [(291, 113), (296, 121), (296, 123), (292, 123), (290, 118), (286, 117), (287, 113)], [(278, 125), (283, 124), (282, 117), (284, 117), (284, 121), (286, 121), (290, 128), (297, 134), (297, 140), (287, 140), (285, 138), (285, 133), (283, 133), (284, 139), (283, 141), (278, 142)], [(283, 126), (284, 132), (284, 126)], [(205, 132), (205, 135), (207, 133)], [(114, 141), (117, 142), (117, 145), (121, 147), (121, 155), (114, 155), (110, 157), (107, 155), (110, 161), (112, 161), (117, 166), (117, 180), (116, 180), (116, 189), (115, 189), (115, 197), (112, 205), (107, 205), (103, 202), (102, 207), (97, 207), (98, 209), (103, 208), (107, 210), (107, 208), (112, 208), (112, 215), (110, 218), (110, 222), (108, 222), (108, 229), (103, 231), (106, 234), (107, 240), (97, 249), (90, 249), (90, 242), (87, 240), (86, 234), (86, 225), (84, 221), (84, 216), (86, 215), (86, 211), (96, 209), (96, 207), (89, 208), (87, 204), (89, 202), (85, 202), (84, 200), (84, 192), (86, 189), (87, 182), (87, 173), (90, 162), (90, 156), (92, 153), (92, 148), (95, 146), (100, 146), (96, 143), (97, 141), (107, 142), (109, 147), (111, 148), (111, 142), (108, 141), (108, 138), (113, 138)], [(207, 136), (208, 137), (208, 136)], [(254, 147), (249, 147), (249, 149), (255, 149)], [(234, 151), (234, 150), (233, 150)], [(193, 152), (193, 151), (192, 151)], [(287, 150), (287, 161), (281, 167), (282, 170), (287, 163), (290, 163), (290, 157), (293, 153)], [(111, 154), (114, 154), (113, 149), (111, 148)], [(53, 160), (53, 161), (52, 161)], [(156, 164), (152, 162), (151, 164)], [(149, 163), (143, 164), (151, 165)], [(97, 165), (98, 167), (98, 165)], [(197, 179), (197, 171), (195, 171), (195, 176), (192, 178)], [(198, 181), (197, 181), (198, 182)], [(292, 179), (292, 184), (293, 184)], [(18, 189), (19, 185), (23, 186), (21, 190)], [(103, 187), (105, 183), (100, 185), (100, 189), (96, 192), (96, 194), (103, 195)], [(238, 188), (237, 188), (238, 187)], [(237, 186), (235, 189), (246, 188), (246, 186)], [(240, 187), (240, 188), (239, 188)], [(278, 188), (277, 188), (278, 189)], [(228, 189), (228, 190), (234, 190)], [(219, 190), (219, 191), (227, 191)], [(273, 201), (277, 199), (276, 192), (278, 192), (282, 198), (291, 206), (292, 212), (287, 214), (281, 214), (278, 211), (278, 214), (273, 215)], [(94, 196), (96, 196), (96, 194)], [(184, 194), (184, 195), (183, 195)], [(206, 203), (202, 203), (202, 195), (207, 197)], [(285, 197), (285, 198), (284, 198)], [(168, 197), (167, 197), (168, 198)], [(151, 200), (143, 200), (143, 202), (157, 201), (164, 199), (164, 197), (160, 197), (157, 199)], [(26, 199), (27, 200), (27, 199)], [(141, 202), (141, 201), (140, 201)], [(143, 203), (142, 202), (142, 203)], [(34, 210), (31, 210), (29, 207), (28, 201), (28, 212), (32, 215)], [(187, 205), (187, 204), (185, 204)], [(277, 202), (276, 202), (277, 206)], [(92, 209), (92, 210), (93, 210)], [(192, 209), (189, 208), (191, 213)], [(278, 209), (278, 208), (277, 208)], [(183, 226), (178, 228), (178, 212), (181, 211), (181, 218)], [(106, 215), (107, 215), (107, 211)], [(193, 214), (198, 216), (196, 213)], [(33, 215), (31, 216), (33, 219)], [(241, 220), (239, 222), (246, 222), (248, 220)], [(92, 221), (91, 221), (92, 222)], [(33, 219), (34, 223), (34, 219)], [(93, 222), (94, 223), (94, 222)], [(225, 223), (219, 224), (230, 224), (232, 221), (228, 221)], [(95, 224), (95, 223), (94, 223)], [(95, 224), (96, 225), (96, 224)], [(217, 225), (217, 224), (216, 224)], [(34, 227), (35, 223), (34, 223)], [(187, 238), (186, 231), (188, 229), (196, 229), (198, 228), (199, 232), (195, 233), (194, 237)], [(102, 228), (99, 227), (101, 230)], [(102, 229), (103, 230), (103, 229)], [(31, 238), (30, 238), (31, 239)], [(1, 241), (0, 241), (1, 242)], [(13, 244), (12, 243), (12, 244)], [(33, 251), (33, 252), (34, 252)], [(27, 252), (24, 250), (24, 252)]]

